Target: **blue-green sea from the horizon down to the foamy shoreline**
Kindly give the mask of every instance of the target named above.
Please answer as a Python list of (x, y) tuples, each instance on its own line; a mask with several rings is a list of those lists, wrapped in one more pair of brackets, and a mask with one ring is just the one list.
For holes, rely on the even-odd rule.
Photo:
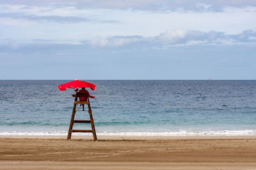
[[(66, 136), (75, 92), (58, 85), (68, 81), (0, 80), (0, 136)], [(256, 135), (254, 80), (87, 81), (97, 85), (88, 90), (97, 135)]]

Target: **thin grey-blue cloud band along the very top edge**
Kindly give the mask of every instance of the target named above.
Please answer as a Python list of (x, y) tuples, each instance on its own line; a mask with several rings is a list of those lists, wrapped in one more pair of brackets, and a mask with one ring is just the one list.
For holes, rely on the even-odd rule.
[(102, 8), (102, 9), (132, 9), (132, 10), (150, 10), (150, 11), (223, 11), (225, 8), (244, 8), (256, 6), (255, 0), (55, 0), (55, 1), (33, 1), (33, 0), (13, 0), (1, 1), (2, 4), (21, 4), (28, 6), (52, 6), (60, 8), (63, 6), (74, 6), (77, 9)]

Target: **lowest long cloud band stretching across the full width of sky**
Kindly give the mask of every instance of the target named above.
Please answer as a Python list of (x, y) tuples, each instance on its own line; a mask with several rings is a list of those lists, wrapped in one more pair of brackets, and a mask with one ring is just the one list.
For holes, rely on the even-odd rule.
[[(247, 30), (239, 34), (225, 34), (218, 31), (197, 31), (189, 29), (173, 29), (161, 32), (158, 36), (108, 36), (106, 38), (85, 39), (75, 41), (66, 39), (65, 41), (56, 41), (54, 39), (33, 39), (29, 42), (13, 41), (12, 39), (1, 40), (1, 50), (3, 52), (27, 52), (51, 48), (61, 49), (78, 48), (81, 50), (93, 51), (97, 49), (106, 50), (147, 50), (150, 48), (174, 48), (176, 46), (191, 45), (256, 45), (256, 31)], [(62, 46), (62, 47), (61, 47)], [(9, 49), (9, 50), (8, 50)], [(23, 49), (23, 50), (22, 50)], [(24, 50), (26, 49), (26, 50)], [(38, 50), (40, 51), (40, 50)]]

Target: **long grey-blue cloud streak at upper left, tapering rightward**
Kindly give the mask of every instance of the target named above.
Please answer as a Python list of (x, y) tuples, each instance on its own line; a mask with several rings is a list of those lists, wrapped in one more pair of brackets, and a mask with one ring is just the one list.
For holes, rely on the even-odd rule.
[[(77, 10), (72, 6), (29, 6), (29, 5), (7, 5), (0, 3), (0, 17), (12, 20), (28, 20), (36, 22), (58, 22), (58, 23), (78, 23), (78, 22), (99, 22), (118, 23), (116, 20), (101, 20), (97, 15), (88, 15), (84, 10)], [(2, 22), (3, 23), (3, 22)], [(11, 25), (11, 24), (8, 24)]]

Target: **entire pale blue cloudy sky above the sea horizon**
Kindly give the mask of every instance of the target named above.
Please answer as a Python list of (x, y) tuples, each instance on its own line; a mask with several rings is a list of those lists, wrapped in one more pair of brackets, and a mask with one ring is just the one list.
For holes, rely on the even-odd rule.
[(0, 0), (0, 80), (256, 80), (255, 0)]

